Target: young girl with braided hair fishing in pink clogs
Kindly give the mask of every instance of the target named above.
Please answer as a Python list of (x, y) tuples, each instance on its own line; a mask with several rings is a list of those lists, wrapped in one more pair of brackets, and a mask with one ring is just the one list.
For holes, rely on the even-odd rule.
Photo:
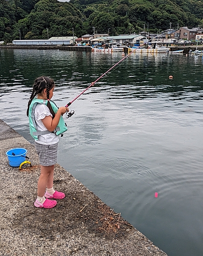
[(27, 109), (30, 134), (35, 139), (41, 167), (37, 199), (34, 202), (35, 207), (39, 208), (53, 208), (57, 202), (50, 199), (65, 197), (64, 193), (54, 190), (53, 178), (54, 164), (57, 162), (58, 136), (67, 130), (62, 115), (69, 109), (64, 106), (57, 108), (51, 101), (54, 87), (55, 83), (49, 77), (41, 76), (35, 79)]

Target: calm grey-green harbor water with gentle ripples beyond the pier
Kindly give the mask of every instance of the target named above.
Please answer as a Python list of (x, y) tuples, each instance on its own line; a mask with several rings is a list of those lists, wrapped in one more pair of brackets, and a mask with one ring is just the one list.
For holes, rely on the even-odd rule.
[[(61, 106), (121, 58), (1, 49), (0, 118), (33, 142), (26, 109), (36, 77), (55, 80)], [(131, 54), (74, 101), (59, 144), (59, 164), (169, 256), (203, 254), (202, 63)]]

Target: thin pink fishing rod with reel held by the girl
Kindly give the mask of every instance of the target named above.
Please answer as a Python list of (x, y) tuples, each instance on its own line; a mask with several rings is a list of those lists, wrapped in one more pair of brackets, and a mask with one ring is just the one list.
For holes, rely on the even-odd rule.
[[(114, 69), (116, 66), (118, 66), (122, 61), (124, 61), (126, 58), (128, 58), (132, 53), (136, 52), (137, 49), (139, 49), (140, 47), (148, 44), (149, 41), (151, 41), (152, 39), (160, 36), (160, 35), (163, 35), (163, 34), (166, 34), (168, 32), (164, 32), (162, 34), (159, 34), (159, 35), (156, 35), (154, 37), (152, 37), (150, 40), (144, 42), (143, 45), (139, 46), (138, 48), (134, 49), (133, 51), (131, 51), (130, 53), (128, 53), (125, 57), (123, 57), (121, 60), (119, 60), (114, 66), (112, 66), (110, 69), (108, 69), (105, 73), (103, 73), (99, 78), (97, 78), (94, 82), (91, 82), (91, 84), (84, 90), (82, 91), (78, 96), (76, 96), (72, 101), (70, 101), (69, 103), (67, 103), (65, 105), (65, 107), (67, 108), (68, 106), (70, 106), (77, 98), (79, 98), (84, 92), (86, 92), (89, 88), (91, 88), (92, 86), (94, 86), (94, 84), (96, 82), (98, 82), (103, 76), (105, 76), (108, 72), (110, 72), (112, 69)], [(69, 113), (68, 113), (69, 114)], [(68, 118), (68, 117), (67, 117)]]

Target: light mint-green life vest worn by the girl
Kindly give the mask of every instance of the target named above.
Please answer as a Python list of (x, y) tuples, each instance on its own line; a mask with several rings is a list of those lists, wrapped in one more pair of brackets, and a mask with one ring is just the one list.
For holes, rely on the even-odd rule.
[[(67, 131), (66, 123), (64, 122), (62, 116), (60, 116), (59, 123), (58, 123), (56, 129), (54, 130), (54, 132), (50, 132), (48, 130), (46, 130), (46, 131), (37, 131), (37, 125), (36, 125), (35, 115), (34, 115), (36, 105), (37, 104), (47, 105), (47, 103), (48, 103), (48, 100), (34, 98), (31, 102), (31, 104), (30, 104), (30, 108), (29, 108), (30, 134), (35, 140), (38, 140), (39, 135), (55, 133), (56, 135), (61, 134), (61, 136), (62, 136), (62, 134)], [(52, 109), (53, 109), (54, 113), (56, 114), (56, 112), (58, 111), (57, 105), (52, 100), (50, 100), (50, 103), (51, 103), (51, 106), (52, 106)]]

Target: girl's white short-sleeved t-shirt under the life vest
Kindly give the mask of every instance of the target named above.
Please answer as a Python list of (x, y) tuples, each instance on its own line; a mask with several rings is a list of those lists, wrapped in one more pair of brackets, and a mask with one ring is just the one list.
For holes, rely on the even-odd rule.
[[(44, 104), (37, 104), (35, 108), (35, 122), (37, 125), (37, 131), (47, 131), (47, 128), (42, 123), (42, 119), (46, 116), (51, 116), (52, 114), (48, 108), (48, 106)], [(48, 133), (45, 135), (39, 135), (38, 140), (35, 140), (37, 143), (44, 145), (52, 145), (59, 141), (58, 136), (55, 133)]]

